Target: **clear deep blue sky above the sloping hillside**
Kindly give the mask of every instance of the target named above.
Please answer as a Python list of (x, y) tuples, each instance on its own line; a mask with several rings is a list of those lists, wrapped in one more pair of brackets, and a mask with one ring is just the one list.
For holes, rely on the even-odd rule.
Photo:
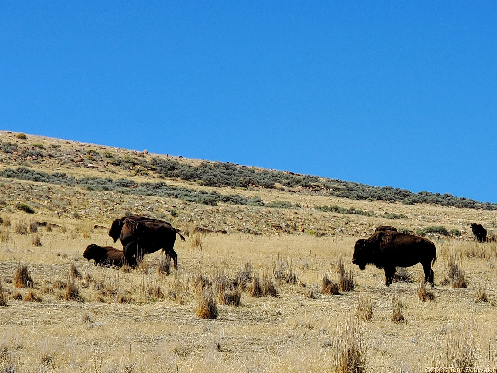
[(494, 1), (3, 1), (0, 128), (497, 202)]

